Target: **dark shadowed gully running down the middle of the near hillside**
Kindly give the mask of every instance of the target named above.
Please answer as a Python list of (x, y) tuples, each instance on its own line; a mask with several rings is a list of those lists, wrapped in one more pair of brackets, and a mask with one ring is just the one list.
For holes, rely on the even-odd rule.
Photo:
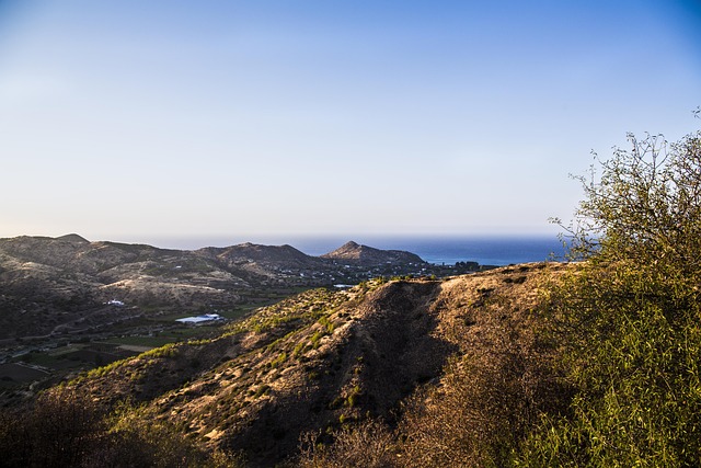
[(227, 448), (243, 450), (248, 466), (274, 466), (296, 453), (303, 433), (324, 442), (344, 424), (376, 416), (392, 423), (401, 401), (439, 376), (457, 351), (433, 334), (439, 292), (438, 282), (393, 282), (368, 294), (349, 333), (307, 365), (311, 377), (262, 403)]

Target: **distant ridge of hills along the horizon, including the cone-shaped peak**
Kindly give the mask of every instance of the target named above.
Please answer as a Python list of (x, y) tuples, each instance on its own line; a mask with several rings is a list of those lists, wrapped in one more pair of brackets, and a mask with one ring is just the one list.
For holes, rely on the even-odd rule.
[[(57, 238), (21, 236), (0, 239), (0, 294), (27, 296), (20, 290), (39, 287), (61, 297), (94, 295), (139, 304), (159, 297), (180, 305), (230, 300), (231, 293), (271, 285), (321, 286), (354, 281), (353, 269), (400, 265), (423, 261), (409, 252), (383, 251), (348, 242), (322, 256), (291, 246), (251, 242), (198, 250), (160, 249), (147, 244), (89, 241), (77, 233)], [(405, 265), (405, 266), (404, 266)], [(367, 272), (367, 271), (366, 271)], [(41, 286), (39, 286), (41, 285)], [(184, 296), (183, 296), (184, 294)], [(234, 294), (235, 295), (235, 294)]]

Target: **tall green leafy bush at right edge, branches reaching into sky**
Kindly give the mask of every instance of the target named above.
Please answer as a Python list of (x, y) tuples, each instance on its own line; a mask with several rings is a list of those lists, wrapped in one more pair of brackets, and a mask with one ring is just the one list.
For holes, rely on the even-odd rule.
[(576, 393), (524, 466), (701, 465), (701, 133), (628, 139), (581, 179), (570, 239), (587, 261), (545, 308)]

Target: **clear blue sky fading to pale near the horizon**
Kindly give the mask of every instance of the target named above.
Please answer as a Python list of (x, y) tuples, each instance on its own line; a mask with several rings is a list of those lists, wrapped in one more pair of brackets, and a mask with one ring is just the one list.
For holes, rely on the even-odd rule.
[(549, 235), (699, 105), (699, 1), (0, 0), (0, 237)]

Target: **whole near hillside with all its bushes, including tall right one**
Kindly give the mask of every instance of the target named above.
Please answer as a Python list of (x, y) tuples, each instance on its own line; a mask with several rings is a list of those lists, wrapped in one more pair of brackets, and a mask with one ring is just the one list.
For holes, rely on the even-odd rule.
[(579, 178), (570, 262), (312, 289), (0, 413), (4, 466), (701, 466), (701, 132)]

